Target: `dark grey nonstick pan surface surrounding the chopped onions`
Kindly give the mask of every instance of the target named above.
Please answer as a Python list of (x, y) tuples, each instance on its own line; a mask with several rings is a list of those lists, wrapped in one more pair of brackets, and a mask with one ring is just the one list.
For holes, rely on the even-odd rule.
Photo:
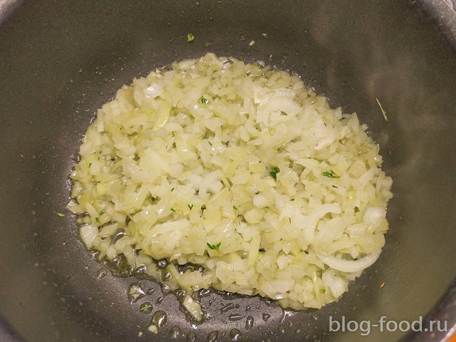
[[(4, 0), (0, 15), (0, 341), (450, 337), (456, 323), (451, 1)], [(187, 43), (187, 33), (195, 41)], [(298, 73), (333, 107), (356, 111), (380, 144), (383, 168), (394, 180), (390, 231), (378, 262), (337, 303), (294, 312), (211, 291), (202, 303), (212, 318), (192, 325), (173, 294), (163, 296), (152, 281), (113, 276), (81, 244), (64, 207), (68, 175), (95, 110), (135, 76), (207, 52)], [(128, 287), (138, 281), (153, 292), (130, 304)], [(152, 314), (138, 309), (144, 301), (152, 314), (167, 314), (157, 335), (147, 331)], [(362, 336), (330, 331), (328, 323), (331, 317), (373, 324), (382, 316), (446, 320), (447, 331), (372, 328)]]

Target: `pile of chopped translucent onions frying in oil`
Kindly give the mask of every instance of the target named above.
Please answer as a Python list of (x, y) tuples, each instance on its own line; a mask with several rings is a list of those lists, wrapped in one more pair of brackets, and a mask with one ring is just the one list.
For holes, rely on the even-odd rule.
[(262, 63), (209, 53), (135, 79), (80, 156), (68, 208), (86, 247), (164, 269), (196, 320), (209, 287), (319, 309), (385, 244), (392, 180), (366, 125)]

